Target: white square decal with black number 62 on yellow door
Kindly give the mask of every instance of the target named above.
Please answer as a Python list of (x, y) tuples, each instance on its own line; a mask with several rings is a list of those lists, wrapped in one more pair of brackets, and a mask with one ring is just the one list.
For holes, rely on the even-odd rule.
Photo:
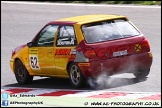
[(30, 66), (32, 69), (40, 69), (37, 55), (30, 55)]

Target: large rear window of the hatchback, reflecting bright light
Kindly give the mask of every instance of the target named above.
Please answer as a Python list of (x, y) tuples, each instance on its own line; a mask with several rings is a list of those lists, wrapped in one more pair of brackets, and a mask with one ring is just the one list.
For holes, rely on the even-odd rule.
[(87, 43), (138, 36), (140, 32), (125, 19), (90, 23), (82, 26)]

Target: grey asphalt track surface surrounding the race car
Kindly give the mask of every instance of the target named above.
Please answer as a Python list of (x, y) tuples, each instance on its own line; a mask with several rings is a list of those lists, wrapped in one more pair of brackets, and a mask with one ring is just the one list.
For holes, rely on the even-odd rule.
[[(120, 14), (127, 16), (146, 36), (153, 53), (153, 64), (146, 79), (139, 81), (132, 74), (116, 75), (109, 80), (109, 86), (97, 89), (161, 92), (160, 6), (67, 5), (59, 3), (40, 5), (1, 2), (1, 87), (20, 87), (9, 65), (11, 53), (15, 47), (31, 41), (49, 21), (85, 14)], [(105, 79), (105, 81), (107, 80)], [(33, 84), (21, 87), (72, 89), (69, 80), (40, 77), (35, 77)], [(83, 89), (96, 88), (87, 86)]]

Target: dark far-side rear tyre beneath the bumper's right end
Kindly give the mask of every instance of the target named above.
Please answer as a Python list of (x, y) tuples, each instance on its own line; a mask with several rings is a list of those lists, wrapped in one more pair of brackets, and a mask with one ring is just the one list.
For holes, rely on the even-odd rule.
[(150, 73), (150, 68), (149, 69), (139, 69), (138, 71), (136, 71), (134, 74), (134, 76), (136, 78), (145, 78), (148, 74)]

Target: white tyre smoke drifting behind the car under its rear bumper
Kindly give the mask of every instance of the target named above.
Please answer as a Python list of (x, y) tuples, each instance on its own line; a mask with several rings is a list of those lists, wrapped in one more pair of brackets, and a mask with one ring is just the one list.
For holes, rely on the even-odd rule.
[[(121, 71), (119, 68), (116, 74), (109, 76), (108, 73), (112, 71), (111, 69), (109, 69), (107, 70), (107, 72), (102, 72), (96, 78), (89, 78), (88, 84), (95, 89), (108, 89), (136, 83), (137, 79), (135, 79), (135, 77), (133, 76), (133, 72), (135, 72), (136, 70), (135, 67), (137, 64), (138, 62), (134, 61), (132, 58), (128, 64), (125, 64), (124, 67), (122, 67), (124, 68), (124, 70)], [(124, 73), (128, 74), (128, 72), (130, 72), (129, 74), (132, 74), (133, 77), (131, 78), (119, 77), (122, 74), (124, 76)]]

